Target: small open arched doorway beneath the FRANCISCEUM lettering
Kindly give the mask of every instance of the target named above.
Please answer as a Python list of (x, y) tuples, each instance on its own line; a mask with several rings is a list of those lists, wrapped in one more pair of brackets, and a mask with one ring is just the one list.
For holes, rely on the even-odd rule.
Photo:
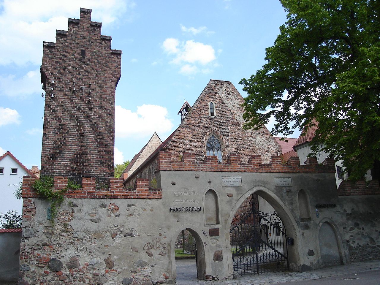
[[(180, 234), (182, 234), (182, 231), (186, 230), (190, 233), (190, 235), (193, 238), (194, 243), (194, 249), (195, 249), (195, 264), (184, 264), (184, 266), (176, 266), (176, 258), (175, 258), (175, 244), (176, 244), (176, 238)], [(178, 262), (180, 263), (180, 261)], [(183, 263), (182, 263), (183, 264)], [(195, 266), (193, 266), (195, 265)], [(176, 280), (177, 277), (179, 279), (185, 278), (186, 280), (190, 279), (200, 279), (203, 280), (204, 276), (206, 275), (206, 259), (205, 259), (205, 253), (204, 253), (204, 246), (203, 241), (199, 234), (193, 230), (191, 227), (182, 226), (177, 232), (176, 235), (173, 237), (171, 242), (171, 268), (172, 268), (172, 278), (173, 280)], [(182, 268), (185, 268), (186, 270), (186, 276), (182, 272), (178, 272), (177, 269), (181, 270)], [(194, 270), (193, 270), (194, 268)], [(190, 270), (190, 272), (189, 272)], [(191, 272), (195, 271), (195, 272)], [(193, 273), (193, 274), (192, 274)]]

